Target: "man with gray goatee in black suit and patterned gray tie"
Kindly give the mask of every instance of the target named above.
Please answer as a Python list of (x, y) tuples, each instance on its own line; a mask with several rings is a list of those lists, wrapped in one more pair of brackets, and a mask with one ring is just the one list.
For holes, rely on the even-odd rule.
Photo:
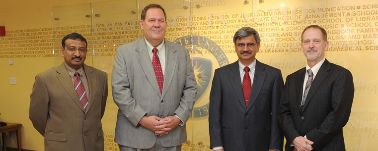
[(323, 28), (310, 25), (303, 30), (307, 65), (286, 78), (280, 101), (285, 151), (345, 151), (343, 127), (352, 107), (353, 77), (324, 58), (328, 45)]

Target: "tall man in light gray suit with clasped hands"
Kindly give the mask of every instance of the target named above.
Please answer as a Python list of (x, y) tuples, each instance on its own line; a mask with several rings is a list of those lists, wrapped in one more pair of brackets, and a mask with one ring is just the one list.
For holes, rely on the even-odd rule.
[(112, 74), (121, 151), (181, 151), (197, 83), (189, 51), (164, 39), (164, 9), (142, 10), (141, 39), (117, 48)]

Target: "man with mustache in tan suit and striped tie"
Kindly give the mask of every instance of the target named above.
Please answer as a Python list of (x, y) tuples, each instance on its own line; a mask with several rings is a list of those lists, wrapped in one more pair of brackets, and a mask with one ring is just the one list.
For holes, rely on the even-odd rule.
[(45, 137), (45, 151), (104, 151), (107, 74), (84, 64), (86, 47), (80, 34), (67, 35), (65, 61), (35, 77), (29, 118)]

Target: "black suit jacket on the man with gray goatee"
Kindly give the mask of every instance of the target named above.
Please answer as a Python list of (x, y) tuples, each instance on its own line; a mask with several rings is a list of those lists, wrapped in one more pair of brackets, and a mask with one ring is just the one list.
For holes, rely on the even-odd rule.
[(343, 127), (348, 122), (354, 96), (349, 70), (325, 59), (308, 91), (301, 111), (305, 68), (286, 78), (279, 121), (286, 137), (285, 151), (293, 140), (306, 136), (314, 151), (345, 151)]

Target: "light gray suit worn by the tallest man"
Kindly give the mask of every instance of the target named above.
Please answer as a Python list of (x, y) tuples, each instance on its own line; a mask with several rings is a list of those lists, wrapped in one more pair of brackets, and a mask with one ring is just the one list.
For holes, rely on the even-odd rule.
[(112, 73), (112, 93), (118, 105), (115, 142), (132, 148), (148, 149), (159, 137), (163, 147), (186, 141), (186, 126), (155, 136), (139, 124), (143, 116), (161, 118), (178, 115), (186, 123), (196, 101), (197, 83), (189, 51), (165, 41), (165, 73), (162, 94), (148, 54), (145, 39), (117, 48)]

